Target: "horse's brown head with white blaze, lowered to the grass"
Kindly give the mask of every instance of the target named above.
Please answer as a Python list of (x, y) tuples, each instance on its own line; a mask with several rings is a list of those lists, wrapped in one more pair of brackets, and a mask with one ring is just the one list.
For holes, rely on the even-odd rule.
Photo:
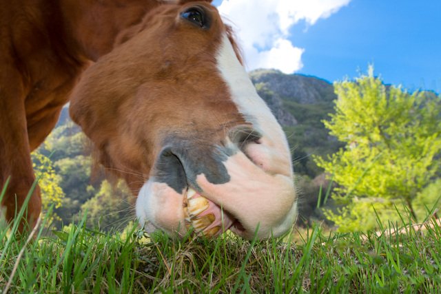
[(209, 1), (164, 3), (121, 32), (83, 73), (70, 114), (137, 196), (147, 231), (267, 238), (296, 219), (285, 134)]

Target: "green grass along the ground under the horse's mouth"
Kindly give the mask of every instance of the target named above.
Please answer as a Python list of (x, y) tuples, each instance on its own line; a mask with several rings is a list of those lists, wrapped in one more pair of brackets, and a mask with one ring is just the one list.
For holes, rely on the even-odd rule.
[[(441, 227), (382, 233), (320, 226), (245, 241), (101, 233), (85, 218), (30, 242), (0, 231), (1, 293), (440, 293)], [(45, 227), (44, 221), (40, 228)], [(12, 231), (16, 228), (13, 227)]]

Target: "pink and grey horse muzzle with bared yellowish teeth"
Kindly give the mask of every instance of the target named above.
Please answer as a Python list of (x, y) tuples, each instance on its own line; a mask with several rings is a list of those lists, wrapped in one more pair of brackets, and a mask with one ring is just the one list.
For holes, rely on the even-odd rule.
[(136, 201), (147, 231), (179, 236), (192, 229), (212, 237), (229, 229), (262, 239), (291, 229), (291, 159), (259, 132), (239, 126), (218, 145), (172, 136), (164, 146)]

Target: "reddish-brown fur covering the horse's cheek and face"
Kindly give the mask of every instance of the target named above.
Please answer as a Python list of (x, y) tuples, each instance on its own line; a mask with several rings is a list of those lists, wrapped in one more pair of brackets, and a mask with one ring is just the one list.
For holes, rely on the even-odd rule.
[(146, 14), (85, 72), (72, 94), (72, 119), (94, 143), (101, 165), (124, 178), (135, 195), (167, 136), (222, 145), (228, 129), (245, 124), (216, 74), (220, 39), (227, 33), (232, 40), (232, 32), (209, 5), (212, 26), (205, 32), (178, 18), (190, 5)]

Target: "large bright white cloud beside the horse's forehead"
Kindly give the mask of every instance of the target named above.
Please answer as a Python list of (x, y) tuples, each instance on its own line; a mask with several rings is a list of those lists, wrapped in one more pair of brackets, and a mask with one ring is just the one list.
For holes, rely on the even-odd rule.
[(303, 48), (289, 41), (289, 28), (299, 21), (314, 25), (351, 0), (223, 0), (218, 7), (233, 25), (248, 70), (276, 68), (291, 74), (302, 68)]

